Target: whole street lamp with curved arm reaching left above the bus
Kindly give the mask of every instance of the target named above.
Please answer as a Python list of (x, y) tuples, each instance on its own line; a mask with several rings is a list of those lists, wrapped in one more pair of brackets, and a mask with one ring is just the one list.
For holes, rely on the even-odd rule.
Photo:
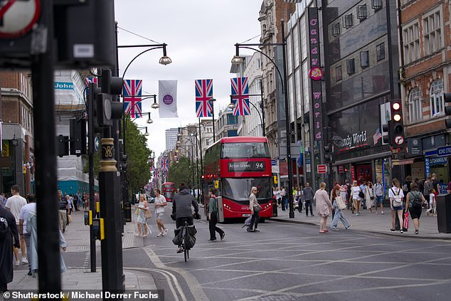
[[(235, 44), (235, 56), (232, 59), (233, 64), (241, 64), (243, 63), (243, 58), (240, 57), (240, 48), (248, 48), (253, 51), (257, 51), (258, 53), (262, 54), (262, 56), (265, 56), (270, 62), (275, 66), (275, 69), (277, 70), (277, 74), (280, 77), (281, 83), (282, 83), (282, 93), (284, 94), (285, 98), (285, 127), (286, 127), (286, 139), (287, 139), (287, 169), (288, 169), (288, 201), (290, 203), (290, 218), (295, 218), (295, 211), (293, 207), (293, 167), (292, 167), (292, 160), (291, 160), (291, 139), (290, 139), (290, 102), (288, 101), (288, 87), (287, 87), (287, 56), (285, 48), (287, 47), (287, 41), (285, 41), (285, 26), (284, 22), (282, 21), (282, 43), (255, 43), (255, 44)], [(282, 46), (282, 58), (283, 58), (283, 73), (284, 76), (282, 76), (282, 73), (280, 73), (279, 68), (277, 67), (277, 64), (275, 63), (272, 58), (267, 56), (265, 53), (260, 51), (259, 49), (256, 49), (254, 47), (260, 47), (260, 46)]]

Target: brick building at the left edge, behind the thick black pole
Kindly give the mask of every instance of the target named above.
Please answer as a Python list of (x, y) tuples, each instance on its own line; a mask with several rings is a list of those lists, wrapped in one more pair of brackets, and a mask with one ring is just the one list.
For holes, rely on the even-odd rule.
[(25, 72), (0, 73), (0, 191), (18, 184), (21, 194), (33, 192), (34, 142), (31, 78)]

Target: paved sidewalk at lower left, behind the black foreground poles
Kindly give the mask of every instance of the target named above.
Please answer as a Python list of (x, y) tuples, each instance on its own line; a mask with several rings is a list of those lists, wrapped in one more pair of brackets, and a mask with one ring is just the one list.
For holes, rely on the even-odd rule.
[[(61, 274), (61, 286), (63, 290), (101, 290), (102, 267), (100, 264), (100, 241), (96, 241), (97, 272), (90, 273), (90, 240), (89, 227), (83, 221), (83, 211), (75, 211), (72, 214), (73, 221), (67, 226), (64, 233), (68, 248), (63, 252), (68, 270)], [(127, 223), (124, 226), (122, 249), (137, 248), (144, 245), (143, 238), (134, 236), (135, 223)], [(72, 257), (84, 258), (82, 266), (70, 266), (68, 260)], [(38, 278), (27, 275), (26, 265), (14, 267), (14, 279), (8, 284), (9, 290), (37, 290)], [(156, 290), (154, 278), (150, 273), (142, 273), (137, 270), (124, 267), (125, 288), (127, 290)]]

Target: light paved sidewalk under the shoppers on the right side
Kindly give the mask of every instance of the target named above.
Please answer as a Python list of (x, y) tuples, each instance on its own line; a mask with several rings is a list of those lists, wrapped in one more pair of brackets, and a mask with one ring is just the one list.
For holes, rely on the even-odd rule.
[[(314, 216), (305, 216), (305, 211), (299, 213), (295, 210), (295, 218), (289, 217), (288, 210), (282, 211), (282, 209), (277, 208), (277, 217), (270, 218), (272, 221), (281, 221), (287, 223), (300, 223), (307, 225), (317, 225), (319, 226), (319, 216), (317, 215), (316, 208), (313, 208)], [(411, 238), (428, 238), (428, 239), (446, 239), (451, 240), (451, 233), (439, 233), (437, 227), (437, 217), (426, 216), (425, 209), (420, 216), (420, 228), (417, 235), (415, 235), (415, 228), (413, 227), (413, 221), (409, 216), (409, 229), (403, 234), (396, 231), (395, 233), (390, 232), (391, 228), (391, 210), (390, 208), (384, 208), (384, 213), (378, 210), (378, 214), (368, 213), (367, 210), (361, 209), (359, 216), (355, 216), (351, 213), (351, 210), (345, 209), (342, 211), (346, 219), (351, 223), (351, 229), (355, 231), (364, 231), (369, 233), (378, 233), (388, 236), (408, 236)], [(329, 216), (327, 219), (327, 227), (330, 228), (332, 218)], [(338, 224), (339, 231), (345, 231), (343, 224), (339, 221)]]

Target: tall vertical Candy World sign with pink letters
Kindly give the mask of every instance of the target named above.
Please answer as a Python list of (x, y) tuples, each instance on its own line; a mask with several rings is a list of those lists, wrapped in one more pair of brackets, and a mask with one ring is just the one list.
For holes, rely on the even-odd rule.
[[(317, 7), (309, 7), (309, 46), (310, 71), (312, 73), (312, 70), (321, 70), (321, 56), (319, 53), (319, 19)], [(319, 78), (317, 71), (315, 71), (314, 74), (317, 75), (314, 76), (314, 78)], [(314, 78), (311, 77), (310, 80), (312, 85), (313, 134), (315, 141), (321, 141), (323, 139), (322, 83), (321, 80), (314, 80)]]

